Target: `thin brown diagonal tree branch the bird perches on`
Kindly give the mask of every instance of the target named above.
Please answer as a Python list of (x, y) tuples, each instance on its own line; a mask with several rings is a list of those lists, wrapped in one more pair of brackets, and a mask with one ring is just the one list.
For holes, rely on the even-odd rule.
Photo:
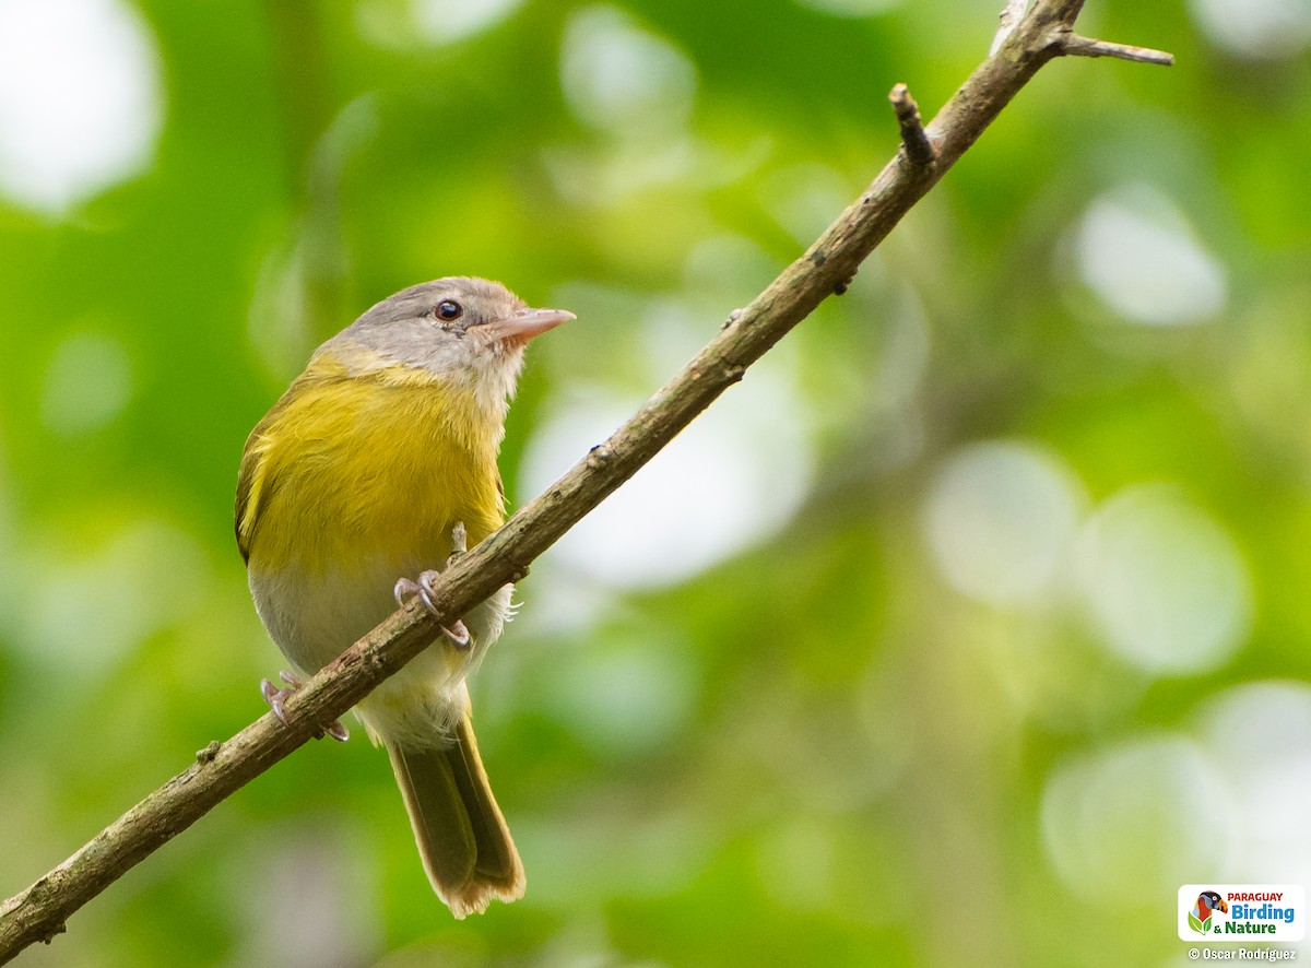
[[(1045, 63), (1065, 54), (1122, 56), (1112, 51), (1138, 50), (1078, 38), (1072, 26), (1082, 7), (1082, 0), (1038, 0), (1023, 20), (1008, 25), (1012, 29), (996, 54), (975, 68), (923, 129), (909, 92), (894, 89), (906, 142), (873, 184), (805, 254), (746, 308), (732, 313), (714, 338), (627, 424), (447, 568), (434, 595), (442, 615), (461, 615), (505, 582), (522, 578), (534, 559), (742, 379), (747, 366), (823, 299), (843, 291), (874, 247)], [(1009, 4), (1007, 9), (1016, 8)], [(1150, 60), (1160, 63), (1164, 56)], [(0, 964), (34, 942), (50, 942), (73, 912), (127, 870), (309, 740), (316, 724), (343, 715), (433, 641), (438, 623), (417, 606), (397, 611), (291, 696), (284, 710), (290, 727), (266, 714), (227, 742), (211, 742), (190, 767), (0, 905)]]

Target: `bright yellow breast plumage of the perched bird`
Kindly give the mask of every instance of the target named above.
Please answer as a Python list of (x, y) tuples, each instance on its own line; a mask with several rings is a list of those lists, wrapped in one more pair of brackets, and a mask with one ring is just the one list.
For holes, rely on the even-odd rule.
[(366, 560), (439, 567), (456, 521), (472, 544), (505, 517), (501, 433), (475, 387), (317, 357), (246, 441), (241, 551), (252, 569), (307, 577)]

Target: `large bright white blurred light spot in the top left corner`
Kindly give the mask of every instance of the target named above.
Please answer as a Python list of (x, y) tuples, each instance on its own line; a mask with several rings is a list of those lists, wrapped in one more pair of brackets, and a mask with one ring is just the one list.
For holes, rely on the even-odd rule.
[(119, 0), (0, 0), (0, 192), (59, 214), (139, 172), (159, 134), (159, 72)]

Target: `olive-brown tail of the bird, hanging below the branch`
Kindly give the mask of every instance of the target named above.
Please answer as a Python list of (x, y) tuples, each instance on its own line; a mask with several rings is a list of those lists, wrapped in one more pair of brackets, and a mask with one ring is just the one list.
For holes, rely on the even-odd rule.
[(387, 744), (427, 879), (451, 913), (480, 913), (523, 897), (523, 864), (510, 839), (465, 712), (444, 746)]

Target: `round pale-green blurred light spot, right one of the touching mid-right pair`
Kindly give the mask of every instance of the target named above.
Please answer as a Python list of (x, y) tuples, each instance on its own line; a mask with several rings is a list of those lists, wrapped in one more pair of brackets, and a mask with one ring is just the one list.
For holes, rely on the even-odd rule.
[(1145, 672), (1207, 672), (1247, 637), (1243, 555), (1175, 488), (1141, 485), (1106, 501), (1080, 536), (1079, 564), (1103, 640)]

